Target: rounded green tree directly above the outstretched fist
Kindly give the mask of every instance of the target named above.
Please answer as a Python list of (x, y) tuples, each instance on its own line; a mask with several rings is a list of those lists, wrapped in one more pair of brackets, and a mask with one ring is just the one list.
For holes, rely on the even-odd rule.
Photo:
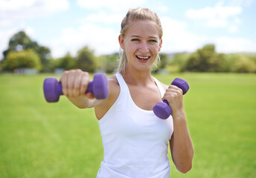
[(95, 72), (97, 64), (94, 50), (83, 47), (77, 52), (77, 67), (87, 72)]

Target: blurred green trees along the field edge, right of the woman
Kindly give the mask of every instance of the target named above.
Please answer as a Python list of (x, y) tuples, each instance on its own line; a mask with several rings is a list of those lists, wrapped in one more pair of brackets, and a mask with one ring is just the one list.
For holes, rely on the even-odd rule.
[(256, 55), (217, 53), (214, 44), (207, 44), (195, 53), (178, 53), (170, 62), (179, 72), (255, 73)]

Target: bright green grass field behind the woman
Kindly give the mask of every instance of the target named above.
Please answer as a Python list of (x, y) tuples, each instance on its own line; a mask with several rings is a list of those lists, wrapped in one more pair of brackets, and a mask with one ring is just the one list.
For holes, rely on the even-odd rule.
[[(0, 75), (0, 177), (96, 177), (103, 160), (93, 109), (65, 97), (47, 103), (49, 75)], [(185, 73), (155, 75), (169, 84), (186, 79), (185, 113), (195, 149), (193, 168), (173, 178), (256, 177), (256, 75)], [(57, 76), (60, 77), (60, 76)]]

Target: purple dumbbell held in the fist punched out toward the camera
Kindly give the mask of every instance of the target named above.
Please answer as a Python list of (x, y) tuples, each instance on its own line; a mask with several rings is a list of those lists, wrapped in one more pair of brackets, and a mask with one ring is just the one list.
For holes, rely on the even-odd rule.
[[(46, 78), (43, 85), (47, 102), (57, 102), (63, 95), (63, 88), (56, 78)], [(96, 99), (106, 99), (109, 95), (109, 82), (103, 73), (95, 74), (93, 81), (89, 82), (86, 93), (92, 92)]]

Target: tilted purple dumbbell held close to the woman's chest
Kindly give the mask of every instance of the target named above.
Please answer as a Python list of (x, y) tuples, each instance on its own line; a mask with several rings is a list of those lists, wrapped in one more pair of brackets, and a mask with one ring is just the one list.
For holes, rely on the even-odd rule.
[[(183, 91), (183, 94), (187, 93), (189, 86), (188, 82), (186, 82), (184, 79), (176, 78), (173, 80), (171, 85), (175, 85), (178, 88), (181, 88)], [(166, 100), (164, 102), (158, 102), (153, 108), (153, 112), (158, 116), (160, 119), (167, 119), (170, 114), (172, 113), (172, 110), (170, 109), (170, 106)]]

